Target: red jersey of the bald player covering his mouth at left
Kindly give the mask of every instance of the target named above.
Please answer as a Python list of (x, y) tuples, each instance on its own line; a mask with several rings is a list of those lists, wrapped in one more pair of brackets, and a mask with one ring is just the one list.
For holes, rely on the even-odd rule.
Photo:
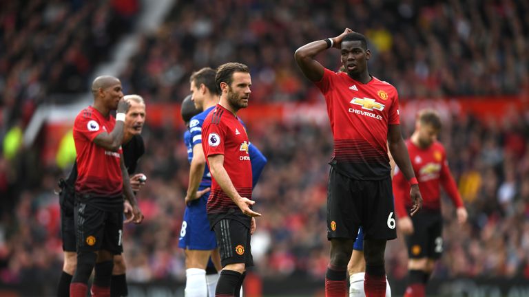
[(100, 133), (110, 133), (116, 120), (112, 115), (105, 118), (94, 107), (83, 109), (74, 122), (74, 142), (77, 152), (78, 175), (75, 190), (98, 196), (121, 195), (121, 147), (118, 152), (107, 151), (94, 143)]

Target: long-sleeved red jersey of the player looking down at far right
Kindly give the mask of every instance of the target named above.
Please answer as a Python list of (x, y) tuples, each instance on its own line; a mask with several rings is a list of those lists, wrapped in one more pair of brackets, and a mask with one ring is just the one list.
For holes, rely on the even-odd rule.
[[(463, 206), (454, 178), (448, 168), (444, 146), (440, 142), (434, 142), (427, 148), (420, 148), (411, 140), (406, 140), (406, 146), (413, 172), (419, 181), (419, 190), (423, 199), (422, 208), (441, 211), (441, 185), (456, 207)], [(397, 167), (395, 167), (393, 176), (393, 195), (395, 195), (397, 217), (406, 217), (407, 210), (411, 208), (410, 185)]]

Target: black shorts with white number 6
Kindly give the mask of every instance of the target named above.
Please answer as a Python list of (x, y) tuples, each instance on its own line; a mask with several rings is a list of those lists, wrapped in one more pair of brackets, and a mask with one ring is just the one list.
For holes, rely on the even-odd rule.
[(355, 239), (360, 226), (364, 239), (397, 238), (391, 177), (357, 180), (331, 168), (327, 188), (327, 238)]

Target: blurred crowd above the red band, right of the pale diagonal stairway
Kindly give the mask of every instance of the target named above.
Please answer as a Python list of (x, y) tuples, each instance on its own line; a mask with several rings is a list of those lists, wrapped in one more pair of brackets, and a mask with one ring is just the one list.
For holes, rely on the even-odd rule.
[[(310, 41), (344, 28), (365, 34), (369, 70), (400, 97), (519, 94), (529, 90), (527, 1), (179, 1), (122, 74), (149, 100), (186, 96), (189, 75), (227, 61), (249, 65), (253, 100), (316, 100), (293, 61)], [(331, 54), (329, 54), (331, 52)], [(338, 50), (320, 54), (340, 67)]]

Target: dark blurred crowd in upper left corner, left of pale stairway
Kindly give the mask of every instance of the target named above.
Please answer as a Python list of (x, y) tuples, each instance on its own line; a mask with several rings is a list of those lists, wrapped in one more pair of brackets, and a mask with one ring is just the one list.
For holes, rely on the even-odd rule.
[(130, 30), (137, 2), (0, 1), (0, 131), (27, 124), (55, 94), (85, 92), (94, 66)]

